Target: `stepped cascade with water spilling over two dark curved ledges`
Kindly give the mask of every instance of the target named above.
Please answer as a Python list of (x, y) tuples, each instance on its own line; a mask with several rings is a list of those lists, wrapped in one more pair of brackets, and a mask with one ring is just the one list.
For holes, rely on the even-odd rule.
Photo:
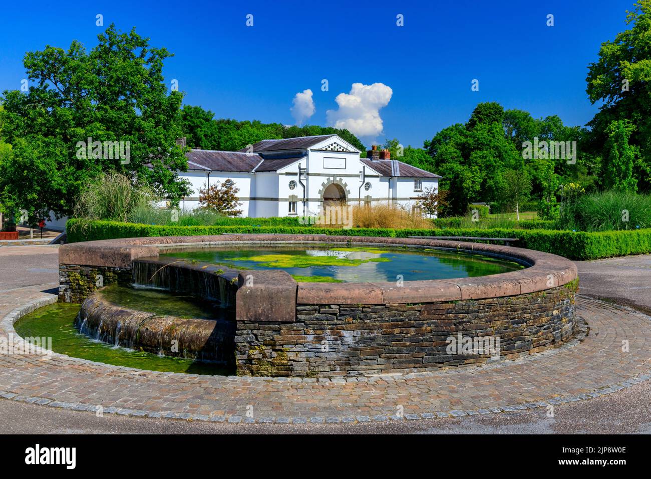
[(76, 325), (115, 346), (231, 365), (238, 274), (182, 260), (137, 259), (132, 262), (137, 289), (111, 285), (92, 293)]

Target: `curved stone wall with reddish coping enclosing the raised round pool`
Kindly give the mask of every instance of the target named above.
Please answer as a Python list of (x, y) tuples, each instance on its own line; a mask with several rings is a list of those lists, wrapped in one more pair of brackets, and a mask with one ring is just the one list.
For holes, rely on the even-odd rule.
[(134, 260), (156, 263), (159, 248), (273, 241), (460, 250), (528, 267), (492, 276), (398, 285), (297, 283), (283, 271), (264, 270), (240, 272), (236, 280), (235, 270), (215, 272), (201, 263), (175, 265), (191, 269), (193, 277), (223, 276), (236, 287), (229, 296), (236, 298), (234, 343), (240, 375), (336, 377), (422, 371), (536, 353), (560, 345), (574, 332), (574, 263), (510, 246), (443, 240), (219, 235), (66, 244), (59, 249), (59, 297), (83, 299), (102, 272), (124, 281)]

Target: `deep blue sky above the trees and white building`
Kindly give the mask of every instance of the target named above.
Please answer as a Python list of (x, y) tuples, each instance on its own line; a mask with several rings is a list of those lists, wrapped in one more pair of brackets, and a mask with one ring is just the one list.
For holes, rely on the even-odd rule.
[[(367, 145), (387, 136), (422, 146), (486, 101), (583, 125), (597, 111), (585, 94), (587, 66), (626, 28), (632, 7), (633, 0), (8, 2), (0, 90), (20, 88), (25, 51), (67, 48), (73, 39), (90, 50), (102, 14), (105, 26), (135, 26), (172, 51), (167, 80), (178, 80), (185, 104), (217, 118), (294, 124), (292, 100), (311, 89), (315, 111), (305, 123), (329, 126), (326, 111), (339, 108), (338, 94), (353, 83), (383, 83), (391, 99), (378, 112), (381, 131), (363, 137)], [(339, 119), (350, 115), (355, 108)]]

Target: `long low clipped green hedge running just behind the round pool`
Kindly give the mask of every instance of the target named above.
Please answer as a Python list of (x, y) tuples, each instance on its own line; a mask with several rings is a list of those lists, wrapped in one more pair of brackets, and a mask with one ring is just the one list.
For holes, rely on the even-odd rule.
[(398, 237), (408, 236), (465, 236), (482, 238), (517, 238), (514, 246), (561, 255), (570, 259), (599, 259), (651, 252), (651, 229), (633, 231), (557, 231), (551, 229), (389, 229), (320, 227), (251, 227), (251, 226), (158, 226), (109, 221), (92, 222), (85, 229), (76, 227), (77, 220), (69, 220), (68, 242), (156, 237), (198, 236), (221, 233), (289, 233), (346, 236)]

